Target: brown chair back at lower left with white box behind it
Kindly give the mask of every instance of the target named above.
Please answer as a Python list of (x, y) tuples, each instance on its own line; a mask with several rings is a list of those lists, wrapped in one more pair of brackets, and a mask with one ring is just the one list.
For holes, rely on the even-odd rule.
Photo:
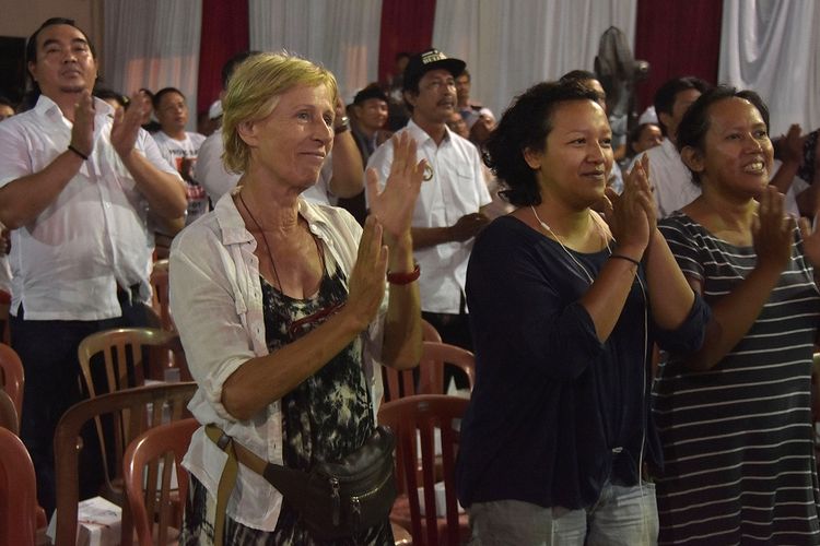
[[(83, 426), (92, 419), (99, 422), (106, 416), (113, 422), (115, 439), (110, 446), (116, 461), (107, 462), (104, 453), (106, 479), (109, 468), (117, 475), (122, 471), (122, 455), (126, 447), (153, 426), (163, 422), (188, 418), (185, 411), (194, 393), (196, 383), (164, 383), (137, 389), (126, 389), (94, 399), (84, 400), (71, 406), (60, 418), (55, 431), (55, 472), (57, 482), (57, 534), (56, 545), (74, 545), (77, 541), (77, 511), (79, 502), (78, 438)], [(149, 410), (150, 408), (150, 410)], [(122, 509), (121, 544), (131, 544), (132, 530), (130, 510)]]

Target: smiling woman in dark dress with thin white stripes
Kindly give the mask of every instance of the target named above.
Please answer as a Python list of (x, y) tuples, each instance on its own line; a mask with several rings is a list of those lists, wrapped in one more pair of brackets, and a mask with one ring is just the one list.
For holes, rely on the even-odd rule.
[(655, 384), (660, 544), (820, 544), (820, 235), (785, 218), (768, 132), (760, 97), (731, 87), (702, 95), (678, 128), (703, 193), (660, 228), (713, 314), (702, 348), (670, 355)]

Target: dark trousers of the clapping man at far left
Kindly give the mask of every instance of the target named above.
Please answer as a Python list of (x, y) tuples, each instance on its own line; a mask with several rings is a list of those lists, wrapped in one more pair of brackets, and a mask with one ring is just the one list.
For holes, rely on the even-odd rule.
[[(37, 499), (47, 517), (50, 517), (56, 502), (54, 434), (57, 423), (66, 410), (83, 397), (77, 358), (80, 342), (102, 330), (148, 325), (143, 304), (131, 304), (124, 295), (120, 308), (121, 317), (95, 321), (25, 320), (22, 306), (16, 317), (10, 317), (11, 346), (20, 355), (25, 371), (20, 436), (34, 462)], [(87, 437), (90, 442), (85, 443), (84, 440), (89, 449), (83, 450), (83, 461), (86, 461), (83, 466), (87, 466), (89, 472), (80, 471), (80, 498), (96, 495), (102, 477), (98, 448), (91, 448), (97, 446), (95, 437)]]

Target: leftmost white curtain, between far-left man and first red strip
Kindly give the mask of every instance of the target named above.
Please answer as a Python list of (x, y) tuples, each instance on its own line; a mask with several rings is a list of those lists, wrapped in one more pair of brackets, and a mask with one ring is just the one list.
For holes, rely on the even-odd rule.
[(197, 127), (201, 0), (106, 0), (106, 86), (131, 95), (176, 87), (188, 102), (188, 130)]

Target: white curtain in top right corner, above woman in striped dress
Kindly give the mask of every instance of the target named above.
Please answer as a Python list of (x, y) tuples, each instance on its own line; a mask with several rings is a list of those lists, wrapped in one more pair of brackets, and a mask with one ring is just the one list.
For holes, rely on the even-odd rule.
[(718, 80), (757, 91), (772, 134), (820, 126), (820, 3), (724, 0)]

